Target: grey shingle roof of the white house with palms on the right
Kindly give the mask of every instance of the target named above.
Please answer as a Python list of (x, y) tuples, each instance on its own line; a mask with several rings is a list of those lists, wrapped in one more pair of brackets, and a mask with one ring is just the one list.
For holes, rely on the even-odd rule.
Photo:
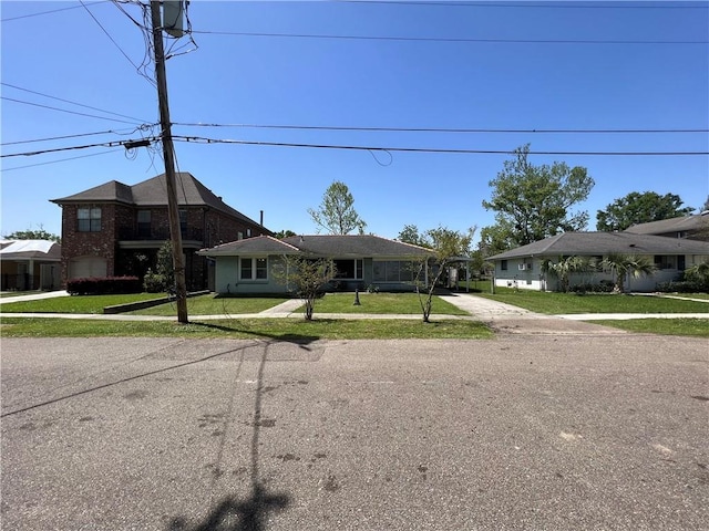
[(608, 253), (709, 256), (709, 242), (664, 236), (634, 235), (630, 232), (562, 232), (561, 235), (495, 254), (487, 260)]

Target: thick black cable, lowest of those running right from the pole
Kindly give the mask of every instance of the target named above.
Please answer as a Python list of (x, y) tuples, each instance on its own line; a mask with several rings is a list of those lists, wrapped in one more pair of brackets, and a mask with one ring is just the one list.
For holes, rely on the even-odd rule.
[[(381, 146), (352, 146), (332, 144), (296, 144), (285, 142), (257, 142), (206, 138), (199, 136), (173, 136), (179, 142), (193, 142), (199, 144), (239, 144), (248, 146), (275, 146), (275, 147), (309, 147), (318, 149), (347, 149), (361, 152), (400, 152), (400, 153), (441, 153), (441, 154), (473, 154), (473, 155), (514, 155), (514, 149), (451, 149), (428, 147), (381, 147)], [(530, 155), (589, 155), (589, 156), (705, 156), (709, 152), (530, 152)]]

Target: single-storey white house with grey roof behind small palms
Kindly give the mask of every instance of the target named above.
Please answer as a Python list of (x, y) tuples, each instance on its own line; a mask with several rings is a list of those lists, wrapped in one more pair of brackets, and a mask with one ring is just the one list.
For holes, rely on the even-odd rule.
[[(658, 270), (650, 277), (626, 282), (630, 291), (654, 291), (661, 282), (678, 280), (685, 269), (709, 260), (709, 242), (634, 235), (630, 232), (563, 232), (510, 251), (490, 257), (494, 262), (495, 285), (520, 289), (556, 291), (558, 281), (542, 271), (544, 260), (558, 261), (561, 257), (589, 257), (603, 260), (612, 253), (649, 257)], [(609, 272), (576, 273), (571, 284), (598, 283), (613, 280)]]

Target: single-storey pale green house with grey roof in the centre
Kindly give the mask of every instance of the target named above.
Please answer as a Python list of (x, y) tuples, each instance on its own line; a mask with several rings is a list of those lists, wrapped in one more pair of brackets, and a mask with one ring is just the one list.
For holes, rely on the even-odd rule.
[(295, 236), (282, 240), (264, 236), (203, 249), (197, 254), (215, 260), (218, 293), (290, 291), (274, 274), (288, 256), (332, 259), (337, 268), (333, 282), (342, 290), (377, 287), (382, 291), (412, 291), (422, 261), (433, 257), (430, 249), (422, 247), (353, 235)]

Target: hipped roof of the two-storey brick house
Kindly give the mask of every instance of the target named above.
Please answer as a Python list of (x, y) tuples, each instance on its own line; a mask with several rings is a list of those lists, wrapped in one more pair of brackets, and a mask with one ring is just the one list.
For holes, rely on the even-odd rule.
[[(177, 205), (210, 207), (242, 221), (261, 227), (253, 219), (229, 207), (210, 189), (204, 186), (188, 171), (175, 174)], [(70, 202), (122, 202), (135, 207), (167, 206), (167, 180), (165, 174), (133, 186), (112, 180), (73, 196), (52, 199), (58, 205)], [(270, 232), (264, 227), (265, 232)]]

